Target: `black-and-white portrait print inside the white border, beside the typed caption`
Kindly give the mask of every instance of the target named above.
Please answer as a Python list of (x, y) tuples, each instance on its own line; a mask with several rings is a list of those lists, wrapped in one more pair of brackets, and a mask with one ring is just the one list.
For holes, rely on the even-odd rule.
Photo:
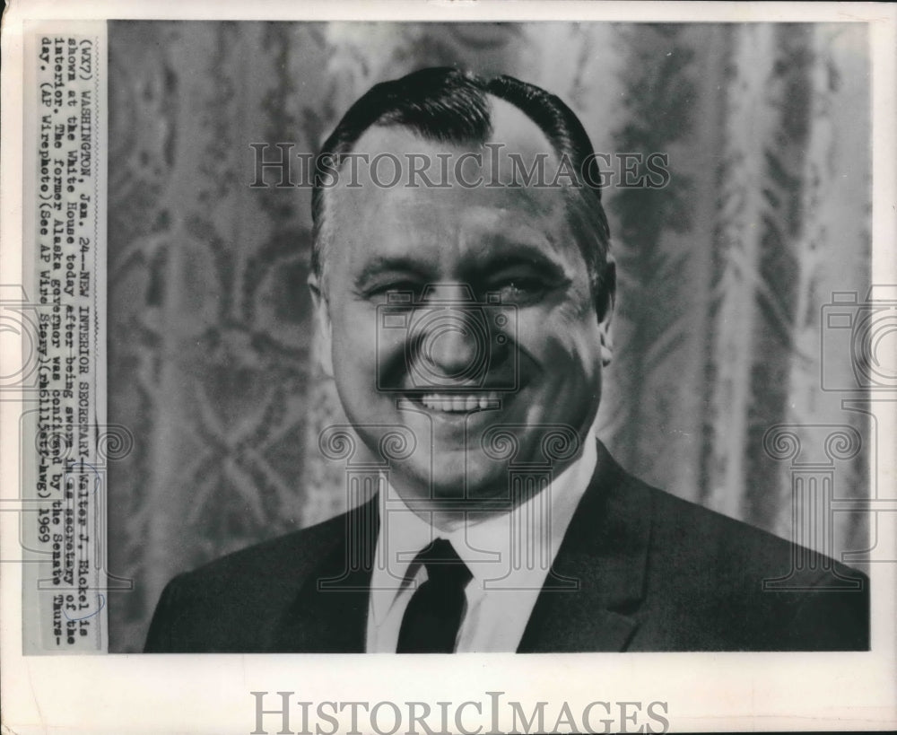
[(867, 513), (790, 538), (784, 445), (867, 497), (818, 383), (868, 70), (858, 25), (110, 23), (111, 650), (866, 650)]

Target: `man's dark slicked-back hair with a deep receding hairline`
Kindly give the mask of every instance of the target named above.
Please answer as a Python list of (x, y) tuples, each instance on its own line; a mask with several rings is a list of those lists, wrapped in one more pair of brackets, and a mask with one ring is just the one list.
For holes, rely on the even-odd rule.
[[(406, 127), (425, 140), (447, 144), (480, 144), (492, 134), (491, 107), (487, 95), (507, 101), (536, 123), (554, 153), (570, 162), (570, 174), (577, 181), (571, 196), (584, 197), (584, 227), (578, 217), (570, 217), (579, 249), (588, 266), (593, 293), (598, 303), (605, 302), (607, 251), (610, 228), (601, 189), (600, 172), (588, 134), (574, 112), (558, 97), (534, 84), (502, 74), (483, 78), (452, 67), (434, 67), (407, 74), (401, 79), (375, 84), (345, 113), (334, 132), (321, 146), (311, 195), (314, 223), (311, 267), (321, 278), (326, 250), (330, 246), (327, 231), (327, 206), (324, 184), (327, 171), (339, 171), (343, 157), (370, 127)], [(567, 188), (565, 188), (566, 191)], [(570, 201), (570, 200), (568, 200)], [(603, 307), (601, 308), (603, 311)]]

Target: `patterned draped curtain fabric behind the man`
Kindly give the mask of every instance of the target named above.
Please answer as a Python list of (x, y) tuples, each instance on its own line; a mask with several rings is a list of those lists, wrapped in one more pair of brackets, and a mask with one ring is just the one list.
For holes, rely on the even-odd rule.
[[(869, 493), (867, 421), (821, 383), (856, 386), (847, 347), (823, 359), (823, 308), (870, 285), (864, 26), (114, 22), (109, 420), (135, 445), (109, 470), (109, 573), (133, 582), (110, 595), (110, 650), (140, 649), (175, 573), (344, 510), (318, 446), (344, 417), (317, 365), (310, 191), (251, 187), (250, 146), (315, 153), (371, 84), (422, 66), (539, 84), (608, 155), (599, 416), (625, 467), (788, 538), (788, 442), (839, 497)], [(650, 153), (666, 186), (625, 186)], [(815, 447), (832, 432), (859, 451)], [(866, 519), (838, 515), (833, 542), (805, 542), (865, 548)]]

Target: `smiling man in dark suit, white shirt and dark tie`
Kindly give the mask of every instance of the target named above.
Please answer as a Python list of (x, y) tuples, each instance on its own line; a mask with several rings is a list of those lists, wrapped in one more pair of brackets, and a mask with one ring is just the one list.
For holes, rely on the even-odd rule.
[(353, 105), (320, 159), (309, 285), (353, 426), (322, 450), (357, 435), (379, 492), (177, 577), (147, 651), (867, 649), (863, 575), (795, 567), (597, 442), (599, 181), (570, 109), (509, 77), (423, 70)]

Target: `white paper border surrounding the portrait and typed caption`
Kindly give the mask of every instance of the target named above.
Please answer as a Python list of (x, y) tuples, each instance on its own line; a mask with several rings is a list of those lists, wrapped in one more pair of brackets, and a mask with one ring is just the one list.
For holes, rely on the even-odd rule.
[[(78, 21), (216, 20), (603, 20), (660, 22), (865, 22), (873, 65), (873, 267), (875, 283), (897, 284), (897, 8), (888, 4), (579, 2), (85, 2), (65, 5)], [(58, 20), (60, 4), (13, 2), (4, 16), (2, 118), (3, 258), (0, 283), (22, 278), (23, 22)], [(883, 447), (893, 446), (897, 403), (883, 404)], [(18, 435), (21, 406), (0, 402), (4, 437)], [(19, 448), (2, 442), (3, 500), (18, 496)], [(894, 457), (880, 452), (881, 486), (893, 486)], [(0, 558), (18, 542), (16, 513), (0, 513)], [(878, 539), (895, 544), (897, 539)], [(897, 567), (873, 564), (871, 652), (467, 654), (396, 659), (366, 655), (22, 655), (22, 570), (0, 569), (3, 724), (16, 733), (85, 731), (234, 732), (256, 727), (251, 692), (294, 693), (292, 701), (479, 702), (489, 692), (527, 704), (664, 702), (670, 731), (886, 730), (897, 728), (894, 591)], [(292, 713), (300, 731), (299, 709)], [(341, 727), (349, 722), (340, 715)], [(597, 719), (597, 718), (596, 718)], [(388, 720), (387, 720), (388, 722)], [(471, 721), (472, 722), (472, 721)], [(280, 721), (266, 720), (267, 731)], [(341, 730), (343, 731), (343, 730)], [(485, 732), (485, 730), (483, 730)]]

